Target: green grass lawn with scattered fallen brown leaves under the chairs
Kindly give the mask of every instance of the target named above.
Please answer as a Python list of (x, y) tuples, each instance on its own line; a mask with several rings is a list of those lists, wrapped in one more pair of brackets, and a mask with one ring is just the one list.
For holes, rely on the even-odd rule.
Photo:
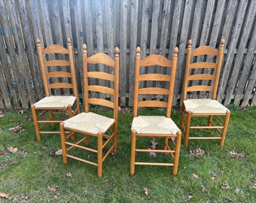
[[(190, 141), (188, 147), (182, 144), (176, 177), (172, 176), (172, 168), (142, 165), (136, 166), (134, 176), (130, 176), (132, 113), (119, 114), (117, 154), (108, 156), (99, 178), (93, 165), (74, 159), (69, 159), (68, 165), (62, 163), (62, 156), (55, 155), (60, 149), (59, 135), (42, 135), (38, 142), (33, 122), (25, 119), (31, 111), (4, 111), (5, 117), (0, 118), (0, 150), (4, 153), (0, 155), (0, 192), (10, 198), (0, 197), (0, 202), (255, 202), (256, 108), (229, 108), (224, 147), (219, 146), (219, 141)], [(180, 113), (172, 113), (175, 123), (179, 118)], [(17, 121), (22, 129), (12, 132), (9, 129)], [(151, 145), (150, 140), (144, 142), (145, 146)], [(17, 147), (18, 151), (10, 153), (8, 147)], [(190, 150), (198, 148), (205, 155), (190, 157)], [(232, 150), (243, 157), (231, 158)], [(144, 155), (142, 159), (166, 157)], [(69, 172), (72, 177), (66, 176)], [(58, 187), (50, 192), (48, 186)]]

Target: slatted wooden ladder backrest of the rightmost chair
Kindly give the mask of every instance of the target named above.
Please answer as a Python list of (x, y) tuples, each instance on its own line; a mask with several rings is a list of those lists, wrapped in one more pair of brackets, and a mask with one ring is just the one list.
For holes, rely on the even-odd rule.
[(192, 41), (189, 40), (183, 100), (188, 97), (206, 98), (211, 95), (212, 99), (216, 99), (224, 53), (224, 39), (221, 39), (219, 50), (210, 46), (200, 46), (191, 50), (191, 45)]

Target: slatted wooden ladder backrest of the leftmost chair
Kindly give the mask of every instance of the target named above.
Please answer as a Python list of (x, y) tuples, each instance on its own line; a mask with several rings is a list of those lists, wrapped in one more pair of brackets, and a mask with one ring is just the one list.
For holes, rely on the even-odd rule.
[(71, 39), (67, 42), (67, 49), (59, 44), (50, 44), (43, 49), (41, 41), (37, 40), (46, 96), (74, 95), (78, 98)]

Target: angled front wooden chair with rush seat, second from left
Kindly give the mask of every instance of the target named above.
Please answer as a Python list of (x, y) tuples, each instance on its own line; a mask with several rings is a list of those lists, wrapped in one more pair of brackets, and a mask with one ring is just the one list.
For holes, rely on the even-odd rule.
[[(119, 50), (114, 50), (114, 60), (105, 53), (96, 53), (87, 57), (87, 47), (83, 45), (84, 62), (84, 113), (78, 114), (60, 123), (62, 142), (62, 158), (65, 164), (68, 157), (96, 165), (98, 176), (102, 176), (102, 162), (109, 153), (117, 152), (117, 113), (118, 113), (118, 86), (119, 86)], [(113, 110), (113, 117), (106, 117), (91, 112), (93, 105)], [(66, 135), (65, 129), (72, 133)], [(69, 140), (81, 132), (81, 137), (75, 141)], [(78, 137), (78, 135), (76, 136)], [(89, 143), (89, 137), (96, 138), (97, 144)], [(85, 144), (91, 146), (85, 146)], [(77, 155), (76, 149), (86, 150), (97, 154), (97, 160)], [(84, 151), (85, 152), (85, 151)]]

